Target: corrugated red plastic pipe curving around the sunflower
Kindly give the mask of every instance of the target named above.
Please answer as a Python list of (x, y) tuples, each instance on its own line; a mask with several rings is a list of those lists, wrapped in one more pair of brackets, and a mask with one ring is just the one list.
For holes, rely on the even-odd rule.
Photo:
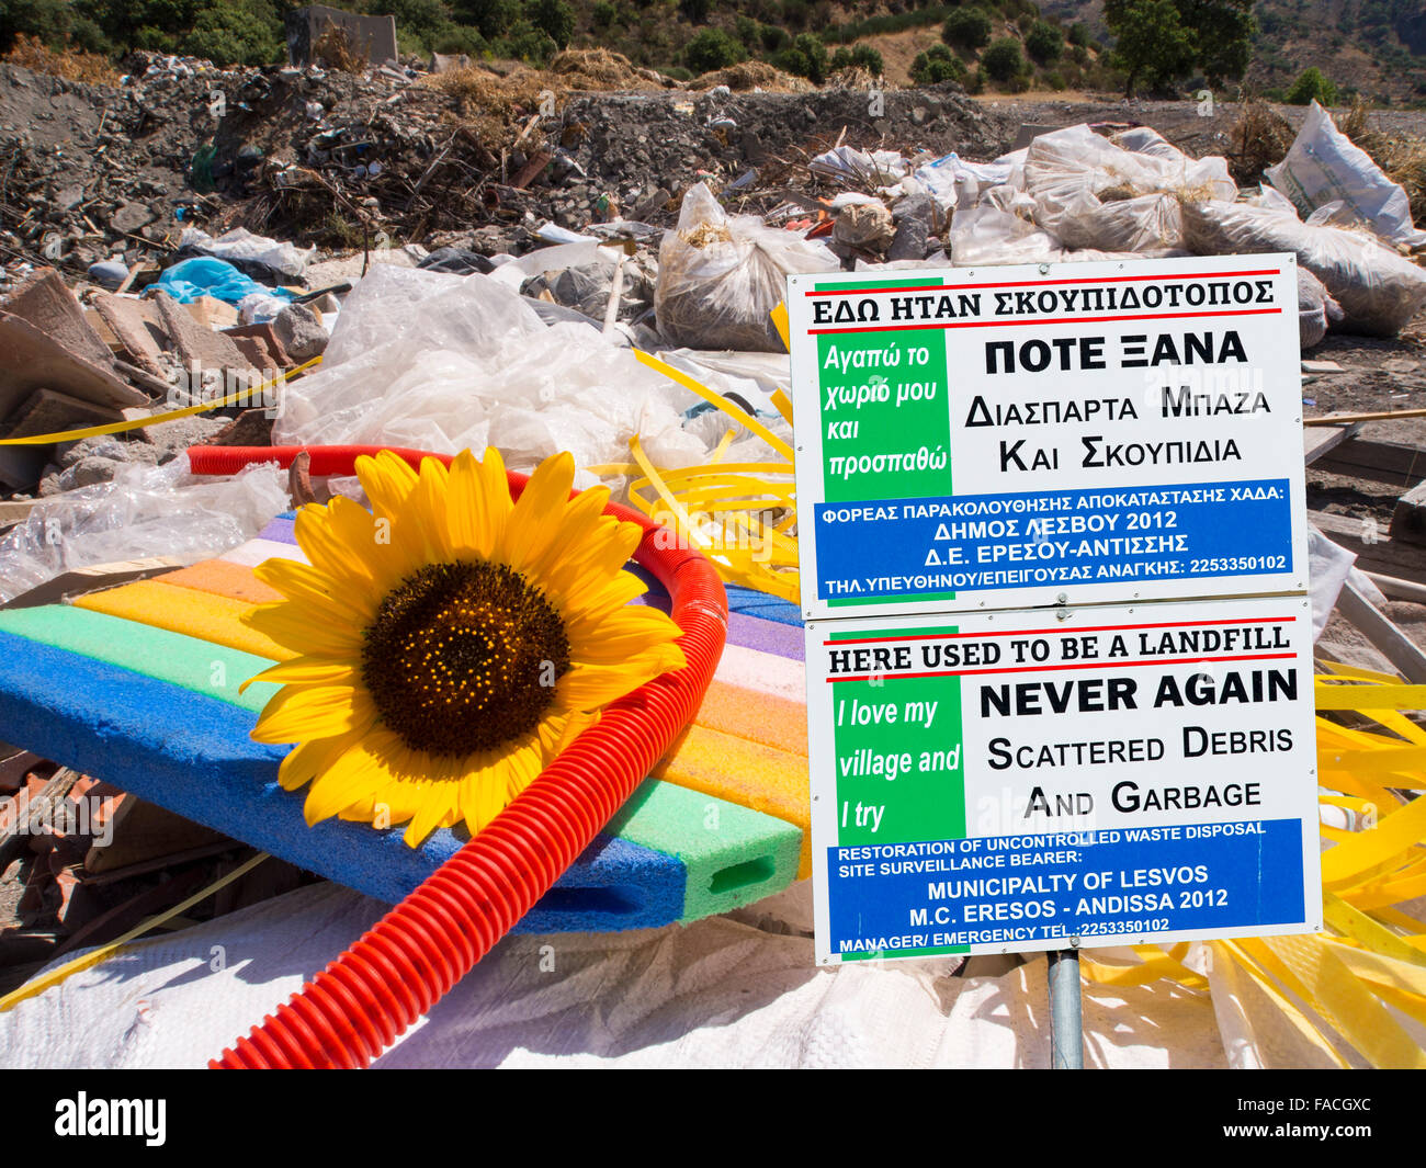
[[(194, 446), (194, 473), (235, 473), (251, 462), (288, 466), (307, 449), (314, 475), (355, 473), (382, 446)], [(394, 449), (394, 448), (392, 448)], [(449, 455), (396, 449), (414, 466)], [(525, 476), (511, 473), (519, 495)], [(361, 1068), (389, 1047), (520, 920), (593, 841), (697, 713), (727, 633), (727, 595), (699, 552), (659, 548), (639, 523), (635, 558), (673, 598), (687, 667), (655, 677), (605, 709), (479, 836), (392, 908), (359, 941), (208, 1065), (228, 1070)]]

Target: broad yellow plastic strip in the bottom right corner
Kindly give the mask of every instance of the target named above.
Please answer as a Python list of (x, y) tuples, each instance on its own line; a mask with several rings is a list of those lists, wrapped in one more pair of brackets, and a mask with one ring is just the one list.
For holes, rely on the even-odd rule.
[[(1298, 991), (1378, 1070), (1426, 1070), (1423, 1051), (1372, 993), (1316, 937), (1263, 937), (1245, 941), (1268, 948)], [(1289, 981), (1289, 985), (1292, 984)], [(1298, 987), (1292, 987), (1298, 988)]]

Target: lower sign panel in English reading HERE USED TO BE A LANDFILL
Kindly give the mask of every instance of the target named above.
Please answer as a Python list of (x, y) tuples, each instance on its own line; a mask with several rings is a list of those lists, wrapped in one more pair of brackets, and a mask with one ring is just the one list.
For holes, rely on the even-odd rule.
[(1302, 596), (809, 623), (817, 960), (1320, 927), (1310, 626)]

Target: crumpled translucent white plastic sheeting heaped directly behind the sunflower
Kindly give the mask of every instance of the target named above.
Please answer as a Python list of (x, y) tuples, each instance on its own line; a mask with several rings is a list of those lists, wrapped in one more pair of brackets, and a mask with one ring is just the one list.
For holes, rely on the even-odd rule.
[(284, 392), (274, 442), (493, 445), (523, 471), (559, 451), (623, 462), (639, 434), (657, 465), (687, 466), (709, 452), (680, 426), (690, 404), (595, 329), (546, 327), (491, 277), (382, 267), (347, 298), (321, 368)]

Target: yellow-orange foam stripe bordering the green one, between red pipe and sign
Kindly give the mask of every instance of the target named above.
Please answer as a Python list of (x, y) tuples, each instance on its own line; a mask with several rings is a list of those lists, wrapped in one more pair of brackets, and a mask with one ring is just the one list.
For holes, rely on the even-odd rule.
[(655, 767), (653, 777), (797, 824), (803, 833), (797, 878), (811, 874), (807, 759), (690, 726)]

